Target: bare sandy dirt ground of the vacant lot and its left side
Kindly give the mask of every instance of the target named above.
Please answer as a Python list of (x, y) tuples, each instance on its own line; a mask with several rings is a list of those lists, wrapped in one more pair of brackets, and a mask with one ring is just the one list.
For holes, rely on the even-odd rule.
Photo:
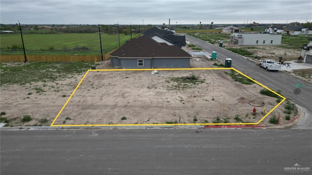
[[(216, 67), (214, 62), (198, 59), (199, 62), (191, 62), (193, 68)], [(98, 69), (111, 69), (109, 65), (109, 61), (100, 62)], [(212, 123), (217, 117), (237, 123), (235, 115), (243, 122), (257, 122), (263, 117), (263, 107), (256, 107), (257, 115), (253, 116), (249, 101), (260, 98), (266, 112), (277, 104), (276, 98), (259, 94), (262, 87), (235, 82), (224, 70), (159, 72), (89, 72), (55, 124), (162, 124), (179, 120), (181, 123)], [(190, 75), (204, 82), (188, 83), (182, 88), (183, 83), (172, 79)], [(54, 83), (2, 86), (1, 111), (6, 112), (10, 126), (50, 125), (82, 76)], [(27, 95), (36, 85), (46, 92)], [(273, 112), (275, 116), (281, 115), (281, 123), (286, 122), (284, 110), (282, 104)], [(30, 115), (33, 120), (21, 122), (24, 115)], [(261, 124), (271, 125), (268, 123), (270, 116), (272, 114)], [(121, 120), (122, 117), (127, 119)], [(46, 122), (42, 120), (45, 118)]]

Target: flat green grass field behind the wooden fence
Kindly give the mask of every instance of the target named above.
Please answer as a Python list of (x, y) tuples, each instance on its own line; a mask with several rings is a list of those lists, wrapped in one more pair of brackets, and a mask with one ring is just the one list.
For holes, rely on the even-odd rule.
[[(101, 34), (105, 53), (118, 47), (118, 35)], [(132, 35), (132, 38), (138, 35)], [(99, 54), (99, 34), (69, 33), (69, 34), (24, 34), (26, 54)], [(130, 40), (130, 35), (120, 35), (120, 45)], [(20, 34), (0, 35), (1, 54), (23, 54), (22, 50), (8, 50), (13, 44), (22, 45)], [(85, 46), (88, 50), (72, 50), (75, 46)]]

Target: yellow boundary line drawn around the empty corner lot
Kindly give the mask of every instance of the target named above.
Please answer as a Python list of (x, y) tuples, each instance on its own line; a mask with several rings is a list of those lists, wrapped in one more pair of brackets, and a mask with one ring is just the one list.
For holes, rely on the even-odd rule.
[[(234, 71), (236, 71), (237, 73), (240, 73), (241, 75), (245, 76), (246, 78), (250, 79), (251, 81), (259, 84), (260, 86), (266, 88), (267, 90), (273, 92), (274, 94), (278, 95), (279, 97), (281, 97), (283, 100), (281, 102), (279, 102), (273, 109), (271, 109), (271, 111), (269, 113), (267, 113), (265, 116), (263, 116), (261, 118), (260, 121), (258, 121), (257, 123), (188, 123), (188, 124), (86, 124), (86, 125), (54, 125), (56, 119), (60, 116), (61, 112), (63, 111), (63, 109), (65, 108), (65, 106), (67, 105), (67, 103), (69, 102), (69, 100), (71, 99), (71, 97), (74, 95), (74, 93), (76, 92), (76, 90), (78, 89), (78, 87), (80, 86), (81, 82), (83, 81), (83, 79), (85, 79), (85, 76), (90, 72), (90, 71), (137, 71), (137, 70), (215, 70), (215, 69), (232, 69)], [(67, 99), (66, 103), (64, 104), (64, 106), (61, 108), (60, 112), (57, 114), (57, 116), (55, 117), (55, 119), (53, 120), (53, 122), (51, 123), (51, 126), (155, 126), (155, 125), (258, 125), (263, 119), (266, 118), (266, 116), (268, 116), (277, 106), (279, 106), (282, 102), (285, 101), (285, 97), (281, 96), (280, 94), (274, 92), (273, 90), (271, 90), (270, 88), (264, 86), (263, 84), (257, 82), (256, 80), (248, 77), (247, 75), (245, 75), (244, 73), (241, 73), (240, 71), (234, 69), (234, 68), (183, 68), (183, 69), (89, 69), (87, 70), (87, 72), (85, 73), (85, 75), (81, 78), (80, 82), (78, 83), (77, 87), (75, 88), (75, 90), (71, 93), (71, 96)]]

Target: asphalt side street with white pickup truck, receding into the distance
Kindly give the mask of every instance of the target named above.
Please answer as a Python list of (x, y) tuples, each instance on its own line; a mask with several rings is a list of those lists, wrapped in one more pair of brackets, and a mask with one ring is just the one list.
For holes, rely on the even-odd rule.
[(226, 58), (231, 58), (233, 68), (241, 71), (251, 78), (255, 78), (256, 81), (271, 88), (272, 90), (282, 90), (282, 94), (292, 101), (295, 101), (295, 94), (293, 92), (296, 88), (295, 83), (303, 84), (301, 87), (301, 93), (297, 97), (297, 103), (300, 106), (312, 111), (312, 83), (303, 81), (300, 78), (295, 78), (287, 73), (266, 71), (264, 68), (256, 66), (256, 63), (247, 60), (240, 55), (221, 49), (220, 47), (192, 36), (186, 35), (186, 39), (209, 53), (216, 51), (217, 58), (223, 62)]

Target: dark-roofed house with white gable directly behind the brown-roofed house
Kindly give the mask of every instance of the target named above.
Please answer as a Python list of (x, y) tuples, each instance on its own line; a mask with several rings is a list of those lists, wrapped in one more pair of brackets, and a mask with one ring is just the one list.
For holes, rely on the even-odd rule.
[(186, 46), (185, 35), (176, 36), (171, 30), (160, 30), (158, 28), (150, 28), (144, 33), (144, 35), (157, 38), (158, 41), (159, 40), (162, 40), (163, 42), (165, 42), (164, 40), (169, 41), (179, 47)]

